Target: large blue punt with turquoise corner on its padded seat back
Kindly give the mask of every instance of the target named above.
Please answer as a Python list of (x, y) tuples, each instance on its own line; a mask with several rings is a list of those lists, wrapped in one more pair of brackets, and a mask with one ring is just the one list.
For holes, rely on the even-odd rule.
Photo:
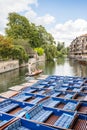
[(76, 118), (76, 113), (46, 108), (41, 105), (36, 106), (30, 112), (26, 113), (28, 120), (43, 123), (55, 128), (70, 129)]

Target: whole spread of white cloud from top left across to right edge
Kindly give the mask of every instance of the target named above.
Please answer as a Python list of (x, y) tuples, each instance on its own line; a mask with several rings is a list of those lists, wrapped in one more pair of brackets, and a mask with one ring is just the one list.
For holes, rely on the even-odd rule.
[[(56, 41), (63, 41), (69, 45), (77, 36), (87, 33), (87, 21), (84, 19), (69, 20), (65, 23), (56, 23), (56, 19), (49, 13), (39, 16), (31, 4), (38, 7), (38, 0), (0, 0), (0, 34), (4, 34), (8, 13), (17, 12), (23, 14), (30, 22), (43, 25), (52, 33)], [(49, 25), (49, 26), (48, 26)], [(49, 28), (51, 27), (51, 28)]]

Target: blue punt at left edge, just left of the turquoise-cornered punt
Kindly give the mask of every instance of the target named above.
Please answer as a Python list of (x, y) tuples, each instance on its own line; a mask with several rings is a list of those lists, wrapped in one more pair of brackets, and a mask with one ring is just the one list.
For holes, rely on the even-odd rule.
[(32, 104), (6, 99), (0, 102), (0, 111), (22, 117), (27, 111), (32, 109), (33, 106)]

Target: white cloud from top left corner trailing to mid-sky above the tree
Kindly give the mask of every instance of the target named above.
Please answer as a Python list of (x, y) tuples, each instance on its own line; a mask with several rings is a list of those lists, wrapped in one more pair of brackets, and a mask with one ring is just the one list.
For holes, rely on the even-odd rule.
[(17, 12), (34, 22), (36, 25), (49, 25), (55, 21), (55, 18), (50, 14), (38, 16), (38, 14), (31, 8), (31, 4), (38, 6), (38, 0), (0, 0), (0, 34), (4, 34), (7, 17), (10, 12)]

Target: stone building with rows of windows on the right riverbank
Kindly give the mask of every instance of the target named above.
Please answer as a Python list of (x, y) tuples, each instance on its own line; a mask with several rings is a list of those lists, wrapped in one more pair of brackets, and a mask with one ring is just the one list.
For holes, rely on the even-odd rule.
[(87, 34), (77, 37), (71, 42), (69, 57), (87, 61)]

